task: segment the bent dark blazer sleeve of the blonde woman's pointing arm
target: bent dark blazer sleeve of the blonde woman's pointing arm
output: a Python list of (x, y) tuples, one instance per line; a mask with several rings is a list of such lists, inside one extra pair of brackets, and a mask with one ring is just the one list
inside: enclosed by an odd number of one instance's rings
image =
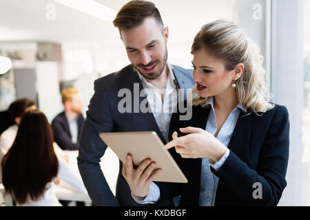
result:
[[(255, 170), (249, 168), (232, 151), (218, 172), (211, 168), (220, 181), (249, 206), (276, 206), (287, 186), (285, 175), (289, 160), (289, 113), (286, 107), (275, 108)], [(261, 190), (261, 195), (258, 190)]]

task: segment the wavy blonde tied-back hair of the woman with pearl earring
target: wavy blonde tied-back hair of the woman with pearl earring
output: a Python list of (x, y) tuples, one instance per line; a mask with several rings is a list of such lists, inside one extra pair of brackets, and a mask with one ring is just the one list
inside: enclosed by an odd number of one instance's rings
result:
[[(266, 89), (266, 72), (262, 67), (259, 48), (236, 23), (217, 20), (204, 25), (195, 36), (191, 53), (201, 49), (223, 61), (227, 71), (234, 69), (238, 63), (245, 65), (242, 76), (236, 81), (236, 93), (240, 104), (254, 113), (266, 112), (273, 108), (273, 104), (267, 101), (271, 95)], [(196, 93), (195, 86), (192, 94)], [(194, 105), (203, 105), (207, 99), (196, 94), (192, 102)]]

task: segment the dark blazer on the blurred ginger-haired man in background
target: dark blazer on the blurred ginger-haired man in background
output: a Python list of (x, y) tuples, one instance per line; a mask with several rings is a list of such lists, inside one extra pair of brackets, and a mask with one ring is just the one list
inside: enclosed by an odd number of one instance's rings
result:
[[(82, 114), (77, 116), (78, 123), (78, 137), (80, 136), (81, 129), (84, 122), (84, 117)], [(69, 128), (69, 123), (65, 117), (65, 112), (59, 113), (54, 120), (52, 120), (52, 129), (54, 131), (54, 140), (63, 150), (75, 151), (79, 149), (79, 142), (76, 144), (71, 141), (71, 133)]]

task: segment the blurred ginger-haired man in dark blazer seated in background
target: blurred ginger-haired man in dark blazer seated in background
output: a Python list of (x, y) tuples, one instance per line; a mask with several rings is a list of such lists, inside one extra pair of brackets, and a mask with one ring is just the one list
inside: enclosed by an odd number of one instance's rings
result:
[(79, 149), (79, 135), (84, 122), (81, 114), (82, 101), (79, 91), (70, 87), (61, 91), (61, 101), (65, 111), (52, 120), (54, 140), (63, 150), (76, 151)]

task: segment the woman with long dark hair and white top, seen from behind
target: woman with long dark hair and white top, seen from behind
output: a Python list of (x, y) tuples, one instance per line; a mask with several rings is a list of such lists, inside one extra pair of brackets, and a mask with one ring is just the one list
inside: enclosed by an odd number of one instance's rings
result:
[(61, 206), (55, 194), (55, 177), (67, 181), (77, 192), (87, 193), (81, 177), (71, 172), (62, 157), (56, 157), (53, 140), (44, 113), (31, 110), (23, 115), (14, 143), (1, 162), (3, 186), (17, 206)]

